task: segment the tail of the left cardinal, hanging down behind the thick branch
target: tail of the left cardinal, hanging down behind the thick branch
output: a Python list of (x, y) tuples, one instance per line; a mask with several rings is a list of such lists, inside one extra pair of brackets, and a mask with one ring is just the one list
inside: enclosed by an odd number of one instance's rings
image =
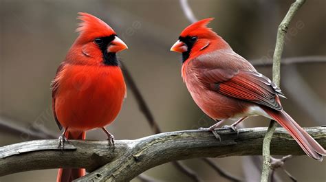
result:
[[(68, 132), (65, 136), (67, 139), (85, 139), (85, 132), (72, 133)], [(56, 179), (57, 182), (70, 182), (74, 179), (78, 179), (79, 177), (85, 176), (85, 169), (59, 169), (58, 177)]]

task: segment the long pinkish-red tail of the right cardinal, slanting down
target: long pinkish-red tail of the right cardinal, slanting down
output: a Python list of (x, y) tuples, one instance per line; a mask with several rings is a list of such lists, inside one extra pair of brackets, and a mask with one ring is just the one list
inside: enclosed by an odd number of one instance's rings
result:
[(285, 111), (274, 111), (271, 109), (264, 109), (268, 115), (270, 115), (276, 122), (281, 124), (290, 135), (298, 142), (299, 146), (305, 151), (305, 153), (318, 161), (323, 160), (323, 156), (326, 155), (325, 149), (320, 146), (317, 141), (312, 138), (301, 126), (299, 126), (293, 119), (285, 113)]

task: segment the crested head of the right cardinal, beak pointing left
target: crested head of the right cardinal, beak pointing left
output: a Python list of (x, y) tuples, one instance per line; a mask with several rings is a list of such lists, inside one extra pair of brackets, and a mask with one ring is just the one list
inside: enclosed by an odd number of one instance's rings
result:
[[(179, 40), (171, 47), (171, 51), (182, 53), (182, 62), (188, 58), (223, 48), (225, 41), (207, 27), (214, 18), (203, 19), (186, 27)], [(221, 41), (220, 41), (221, 40)]]

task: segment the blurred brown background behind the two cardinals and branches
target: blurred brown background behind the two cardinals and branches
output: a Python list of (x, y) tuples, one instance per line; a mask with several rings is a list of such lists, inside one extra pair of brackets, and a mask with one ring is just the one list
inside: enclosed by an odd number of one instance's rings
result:
[[(292, 1), (189, 1), (198, 19), (215, 17), (210, 24), (248, 60), (272, 57), (276, 30)], [(290, 26), (283, 57), (325, 56), (326, 4), (310, 0), (303, 5)], [(59, 130), (51, 111), (50, 82), (56, 68), (77, 34), (77, 12), (89, 12), (106, 21), (129, 49), (119, 54), (164, 131), (209, 126), (212, 121), (193, 102), (180, 77), (180, 55), (171, 45), (189, 22), (179, 1), (0, 1), (0, 115), (1, 120), (25, 128)], [(271, 67), (259, 68), (271, 76)], [(326, 65), (301, 64), (282, 68), (281, 88), (287, 100), (285, 110), (301, 126), (326, 124)], [(246, 127), (268, 126), (268, 120), (247, 120)], [(136, 139), (151, 135), (144, 116), (129, 91), (116, 122), (108, 127), (116, 139)], [(102, 132), (89, 131), (88, 139), (105, 139)], [(30, 139), (1, 130), (0, 146)], [(243, 157), (215, 159), (222, 168), (238, 177), (248, 177)], [(198, 159), (185, 163), (205, 181), (226, 181)], [(325, 181), (325, 161), (306, 156), (287, 161), (285, 168), (299, 181)], [(57, 170), (21, 172), (0, 177), (0, 181), (55, 181)], [(171, 164), (146, 172), (162, 181), (189, 181)], [(283, 181), (290, 181), (279, 170)], [(254, 181), (254, 179), (248, 179)], [(133, 181), (138, 181), (134, 179)]]

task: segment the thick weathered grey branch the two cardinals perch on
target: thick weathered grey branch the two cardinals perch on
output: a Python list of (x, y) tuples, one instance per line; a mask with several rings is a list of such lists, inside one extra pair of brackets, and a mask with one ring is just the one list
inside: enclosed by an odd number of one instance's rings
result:
[[(321, 146), (326, 146), (325, 127), (305, 130)], [(217, 130), (217, 133), (222, 138), (221, 142), (216, 142), (211, 133), (201, 130), (118, 140), (115, 152), (108, 150), (107, 141), (70, 140), (65, 152), (58, 148), (56, 139), (26, 141), (0, 148), (0, 176), (26, 170), (86, 168), (88, 172), (93, 172), (76, 181), (129, 181), (145, 170), (169, 161), (261, 155), (266, 128), (239, 129), (239, 136), (224, 129)], [(276, 129), (271, 146), (273, 155), (305, 155), (283, 128)]]

